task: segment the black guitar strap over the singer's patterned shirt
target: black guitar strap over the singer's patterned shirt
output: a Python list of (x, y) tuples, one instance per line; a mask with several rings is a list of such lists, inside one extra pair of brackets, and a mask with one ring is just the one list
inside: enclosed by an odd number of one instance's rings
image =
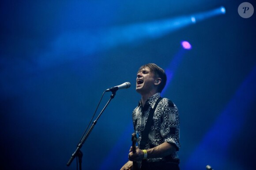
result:
[(139, 148), (140, 149), (145, 149), (145, 147), (146, 147), (147, 140), (148, 140), (149, 130), (151, 128), (152, 121), (153, 121), (154, 111), (155, 111), (158, 103), (161, 100), (162, 100), (162, 97), (159, 97), (158, 100), (154, 104), (154, 108), (152, 109), (152, 107), (150, 107), (150, 111), (149, 111), (149, 115), (148, 115), (147, 122), (146, 122), (146, 125), (145, 125), (145, 129), (144, 129), (144, 131), (141, 134), (141, 140), (140, 140), (140, 144), (139, 144)]

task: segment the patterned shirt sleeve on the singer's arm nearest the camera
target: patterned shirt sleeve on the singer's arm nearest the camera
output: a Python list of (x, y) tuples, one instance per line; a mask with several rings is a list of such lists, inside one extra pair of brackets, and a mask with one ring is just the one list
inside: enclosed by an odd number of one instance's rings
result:
[(180, 118), (176, 105), (171, 100), (162, 103), (161, 136), (165, 142), (180, 148)]

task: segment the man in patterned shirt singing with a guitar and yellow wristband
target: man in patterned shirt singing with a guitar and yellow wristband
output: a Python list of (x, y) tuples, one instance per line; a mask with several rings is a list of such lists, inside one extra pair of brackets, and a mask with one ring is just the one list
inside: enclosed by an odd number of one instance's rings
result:
[(180, 148), (179, 113), (171, 100), (160, 96), (166, 79), (165, 71), (156, 64), (139, 68), (136, 91), (141, 100), (132, 112), (138, 147), (135, 153), (131, 147), (129, 161), (120, 170), (132, 170), (133, 161), (139, 164), (139, 170), (180, 169), (177, 154)]

